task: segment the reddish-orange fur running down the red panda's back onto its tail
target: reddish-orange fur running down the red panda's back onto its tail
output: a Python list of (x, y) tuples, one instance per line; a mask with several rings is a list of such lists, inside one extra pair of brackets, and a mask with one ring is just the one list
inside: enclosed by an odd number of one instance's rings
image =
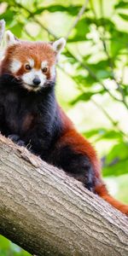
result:
[[(60, 108), (61, 109), (61, 108)], [(65, 144), (69, 144), (75, 152), (85, 154), (89, 157), (90, 161), (93, 163), (96, 177), (96, 188), (95, 192), (97, 195), (100, 195), (105, 201), (108, 201), (113, 207), (117, 208), (120, 212), (128, 215), (128, 206), (115, 200), (108, 193), (108, 189), (105, 184), (102, 182), (101, 177), (101, 165), (96, 155), (96, 150), (91, 146), (91, 144), (82, 137), (79, 132), (77, 132), (70, 119), (67, 118), (67, 115), (61, 109), (61, 117), (64, 122), (64, 133), (61, 139), (58, 142), (60, 147)]]

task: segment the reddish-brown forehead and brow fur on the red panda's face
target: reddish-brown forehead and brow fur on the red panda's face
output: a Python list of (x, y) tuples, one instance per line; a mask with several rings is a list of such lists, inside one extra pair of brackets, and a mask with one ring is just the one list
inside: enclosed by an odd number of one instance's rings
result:
[[(32, 44), (32, 42), (20, 41), (20, 44), (15, 44), (7, 48), (5, 58), (2, 61), (1, 73), (11, 73), (9, 65), (11, 61), (16, 59), (22, 63), (20, 70), (15, 73), (15, 77), (19, 78), (20, 75), (28, 72), (25, 69), (25, 64), (30, 58), (34, 60), (34, 68), (37, 70), (41, 68), (42, 61), (48, 61), (48, 67), (51, 67), (55, 64), (55, 51), (50, 44), (42, 42)], [(50, 79), (49, 69), (46, 75), (47, 79)]]

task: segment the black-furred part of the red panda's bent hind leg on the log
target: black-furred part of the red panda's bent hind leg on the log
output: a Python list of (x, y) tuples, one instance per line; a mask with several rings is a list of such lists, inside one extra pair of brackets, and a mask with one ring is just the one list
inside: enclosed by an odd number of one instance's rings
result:
[(94, 170), (87, 155), (76, 152), (72, 145), (61, 145), (52, 155), (52, 164), (63, 169), (68, 175), (84, 183), (86, 189), (94, 192)]

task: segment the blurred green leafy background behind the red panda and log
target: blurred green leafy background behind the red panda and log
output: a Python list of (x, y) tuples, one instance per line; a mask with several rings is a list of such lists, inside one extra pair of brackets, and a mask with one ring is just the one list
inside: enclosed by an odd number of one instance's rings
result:
[[(56, 96), (95, 145), (110, 193), (128, 203), (128, 1), (0, 1), (0, 19), (18, 38), (67, 38)], [(29, 254), (0, 236), (0, 256), (12, 255)]]

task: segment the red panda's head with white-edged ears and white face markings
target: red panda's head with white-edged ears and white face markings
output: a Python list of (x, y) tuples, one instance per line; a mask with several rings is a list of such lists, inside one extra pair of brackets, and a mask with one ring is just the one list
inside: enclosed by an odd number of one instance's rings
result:
[(13, 75), (27, 90), (40, 90), (55, 80), (55, 64), (66, 41), (54, 43), (21, 41), (6, 32), (7, 49), (1, 73)]

